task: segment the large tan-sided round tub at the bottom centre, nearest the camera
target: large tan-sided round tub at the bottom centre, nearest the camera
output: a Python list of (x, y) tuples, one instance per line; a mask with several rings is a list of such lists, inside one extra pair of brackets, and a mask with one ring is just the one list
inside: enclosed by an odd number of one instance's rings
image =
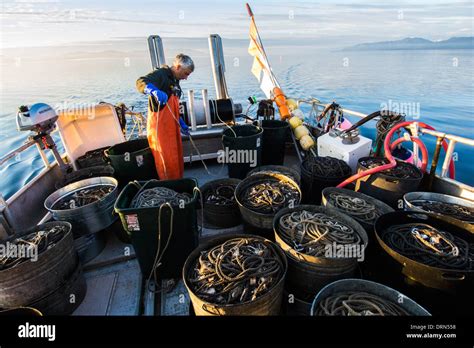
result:
[[(280, 262), (283, 264), (283, 274), (280, 279), (273, 284), (273, 287), (267, 291), (265, 294), (261, 295), (254, 301), (247, 301), (238, 304), (215, 304), (202, 300), (199, 298), (193, 288), (191, 287), (189, 278), (193, 271), (195, 262), (201, 255), (201, 252), (205, 250), (210, 250), (213, 247), (220, 245), (231, 239), (238, 238), (256, 238), (263, 243), (265, 243), (276, 256), (279, 258)], [(184, 264), (182, 276), (184, 284), (188, 290), (191, 302), (193, 304), (193, 309), (196, 315), (252, 315), (252, 316), (267, 316), (267, 315), (278, 315), (281, 310), (281, 301), (283, 296), (283, 285), (285, 283), (285, 276), (287, 272), (287, 262), (285, 254), (281, 249), (275, 245), (273, 242), (268, 239), (264, 239), (259, 236), (253, 235), (234, 235), (234, 236), (221, 236), (216, 237), (205, 244), (200, 245), (196, 248), (187, 258), (186, 263)]]

